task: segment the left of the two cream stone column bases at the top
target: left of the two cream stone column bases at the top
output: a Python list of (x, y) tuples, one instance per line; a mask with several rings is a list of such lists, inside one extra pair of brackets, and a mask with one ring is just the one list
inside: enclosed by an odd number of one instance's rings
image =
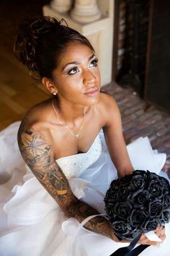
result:
[(53, 0), (50, 6), (58, 13), (66, 13), (71, 9), (72, 0)]

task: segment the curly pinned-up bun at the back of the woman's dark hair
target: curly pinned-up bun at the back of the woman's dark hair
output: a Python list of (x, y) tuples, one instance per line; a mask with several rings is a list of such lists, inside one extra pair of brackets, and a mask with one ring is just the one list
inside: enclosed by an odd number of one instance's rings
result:
[[(61, 20), (62, 22), (63, 20)], [(33, 73), (40, 72), (38, 67), (38, 46), (45, 33), (53, 28), (60, 29), (61, 22), (52, 17), (28, 18), (19, 26), (19, 34), (14, 44), (14, 53)]]

